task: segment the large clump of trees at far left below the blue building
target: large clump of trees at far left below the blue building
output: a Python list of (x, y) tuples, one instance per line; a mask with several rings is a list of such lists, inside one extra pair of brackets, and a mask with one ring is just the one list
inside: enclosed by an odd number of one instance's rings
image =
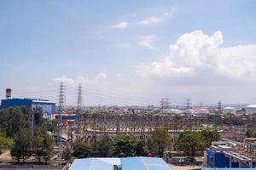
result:
[(0, 150), (10, 149), (17, 161), (26, 161), (29, 156), (49, 160), (53, 154), (53, 139), (47, 133), (55, 129), (55, 124), (43, 118), (42, 111), (35, 108), (34, 133), (29, 131), (30, 111), (26, 107), (0, 110)]

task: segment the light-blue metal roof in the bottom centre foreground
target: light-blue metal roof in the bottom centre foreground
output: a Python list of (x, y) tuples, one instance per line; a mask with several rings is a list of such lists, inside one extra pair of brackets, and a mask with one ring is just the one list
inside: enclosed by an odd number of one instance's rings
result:
[(172, 170), (158, 157), (75, 159), (69, 170)]

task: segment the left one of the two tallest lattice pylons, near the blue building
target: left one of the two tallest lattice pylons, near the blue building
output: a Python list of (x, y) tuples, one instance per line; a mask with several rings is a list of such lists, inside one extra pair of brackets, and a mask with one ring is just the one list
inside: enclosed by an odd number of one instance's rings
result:
[(64, 83), (60, 83), (60, 88), (59, 88), (59, 109), (58, 109), (58, 144), (61, 146), (61, 138), (62, 138), (62, 111), (64, 108), (65, 104), (65, 88), (64, 88)]

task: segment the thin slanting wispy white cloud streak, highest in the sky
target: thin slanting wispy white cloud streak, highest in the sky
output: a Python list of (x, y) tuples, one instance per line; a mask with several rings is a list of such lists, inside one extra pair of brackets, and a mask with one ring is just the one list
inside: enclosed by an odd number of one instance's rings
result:
[(148, 26), (158, 24), (172, 17), (172, 13), (165, 13), (160, 16), (151, 16), (138, 22), (139, 25)]

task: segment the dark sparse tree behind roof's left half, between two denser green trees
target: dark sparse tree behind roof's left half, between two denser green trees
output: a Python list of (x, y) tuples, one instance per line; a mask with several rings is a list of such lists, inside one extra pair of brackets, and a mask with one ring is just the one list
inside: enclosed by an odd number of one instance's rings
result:
[(108, 135), (102, 136), (92, 145), (93, 156), (108, 157), (110, 156), (112, 140)]

